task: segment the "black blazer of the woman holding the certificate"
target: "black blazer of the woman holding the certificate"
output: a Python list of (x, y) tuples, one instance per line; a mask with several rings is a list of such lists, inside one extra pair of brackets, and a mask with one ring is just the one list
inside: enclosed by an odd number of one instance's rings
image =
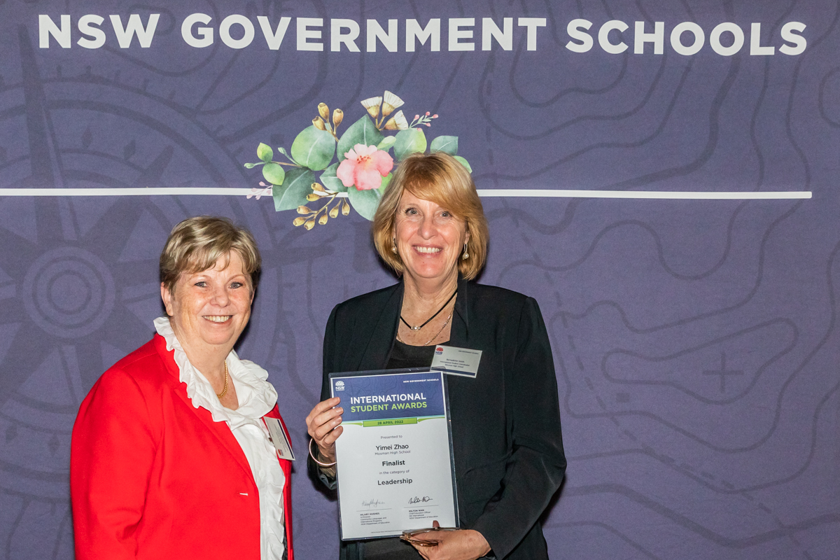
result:
[[(331, 372), (385, 369), (402, 294), (401, 282), (333, 309), (321, 400), (329, 398)], [(475, 379), (447, 376), (461, 526), (480, 531), (500, 560), (548, 558), (538, 518), (563, 480), (566, 459), (537, 301), (459, 279), (449, 346), (482, 351)], [(346, 548), (342, 557), (353, 557)]]

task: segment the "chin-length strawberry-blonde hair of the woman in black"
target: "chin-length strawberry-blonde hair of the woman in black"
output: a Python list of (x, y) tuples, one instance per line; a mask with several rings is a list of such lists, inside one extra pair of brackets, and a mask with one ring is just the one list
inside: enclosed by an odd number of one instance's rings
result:
[(473, 280), (484, 268), (489, 232), (484, 208), (470, 172), (444, 152), (412, 154), (400, 162), (376, 209), (372, 227), (376, 252), (398, 274), (405, 270), (405, 264), (391, 248), (394, 243), (396, 209), (404, 191), (411, 192), (417, 198), (433, 201), (452, 212), (454, 217), (464, 220), (470, 233), (467, 244), (470, 258), (458, 259), (458, 271), (467, 280)]

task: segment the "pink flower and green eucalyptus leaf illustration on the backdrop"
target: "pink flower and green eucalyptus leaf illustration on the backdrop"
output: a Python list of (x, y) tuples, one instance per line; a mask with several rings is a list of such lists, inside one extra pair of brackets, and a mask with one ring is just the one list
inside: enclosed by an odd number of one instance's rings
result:
[(438, 115), (417, 114), (409, 123), (400, 109), (404, 103), (387, 91), (365, 99), (361, 105), (366, 113), (340, 134), (344, 111), (330, 113), (326, 103), (319, 103), (318, 116), (297, 134), (291, 150), (277, 148), (286, 160), (276, 161), (268, 144), (257, 147), (260, 161), (245, 167), (261, 165), (265, 181), (251, 189), (248, 198), (271, 195), (277, 212), (296, 210), (300, 216), (292, 223), (309, 230), (339, 217), (339, 212), (347, 216), (350, 207), (372, 220), (396, 166), (427, 147), (453, 155), (472, 172), (458, 155), (457, 136), (438, 136), (428, 143), (423, 127), (431, 127)]

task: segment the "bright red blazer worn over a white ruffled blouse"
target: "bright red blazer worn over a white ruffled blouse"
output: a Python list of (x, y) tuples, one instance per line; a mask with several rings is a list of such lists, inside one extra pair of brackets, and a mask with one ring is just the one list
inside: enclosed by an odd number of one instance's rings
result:
[[(173, 356), (155, 335), (81, 403), (70, 458), (78, 560), (260, 560), (260, 499), (248, 460), (226, 423), (192, 406)], [(277, 406), (266, 416), (280, 418)], [(294, 560), (291, 463), (279, 460)]]

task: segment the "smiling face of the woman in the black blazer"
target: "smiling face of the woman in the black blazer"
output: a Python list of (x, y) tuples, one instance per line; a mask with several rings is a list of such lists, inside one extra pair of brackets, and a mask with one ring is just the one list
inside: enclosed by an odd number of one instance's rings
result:
[(457, 277), (458, 257), (470, 233), (464, 220), (446, 208), (403, 191), (396, 207), (394, 237), (407, 276), (414, 281), (444, 282)]

